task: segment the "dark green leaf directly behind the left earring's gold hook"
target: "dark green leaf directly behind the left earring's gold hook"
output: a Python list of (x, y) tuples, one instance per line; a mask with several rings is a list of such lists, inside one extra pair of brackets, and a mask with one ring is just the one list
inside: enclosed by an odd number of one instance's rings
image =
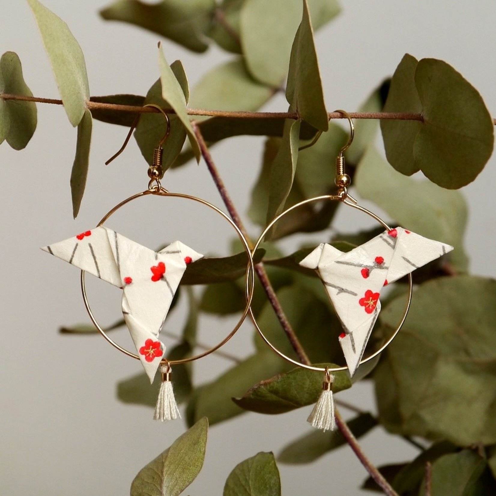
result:
[[(183, 64), (180, 61), (175, 61), (171, 64), (171, 70), (178, 80), (187, 102), (189, 89), (187, 84), (186, 74)], [(168, 102), (162, 98), (162, 83), (160, 79), (155, 81), (153, 86), (148, 90), (145, 98), (145, 104), (153, 103), (161, 108), (169, 108)], [(186, 140), (186, 129), (176, 115), (168, 115), (171, 123), (171, 132), (167, 141), (164, 143), (164, 151), (162, 154), (162, 171), (165, 172), (174, 163), (180, 154), (184, 142)], [(149, 165), (153, 164), (153, 153), (166, 132), (166, 122), (164, 116), (159, 113), (141, 114), (134, 138), (141, 150), (143, 158)]]

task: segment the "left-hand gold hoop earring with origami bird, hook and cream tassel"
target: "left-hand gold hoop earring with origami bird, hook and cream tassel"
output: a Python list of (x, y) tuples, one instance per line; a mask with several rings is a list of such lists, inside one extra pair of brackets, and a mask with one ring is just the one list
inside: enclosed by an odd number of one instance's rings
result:
[[(150, 378), (150, 382), (153, 382), (157, 369), (160, 368), (162, 383), (154, 418), (155, 420), (163, 421), (181, 417), (174, 398), (171, 367), (205, 357), (219, 349), (234, 336), (248, 315), (254, 288), (254, 280), (250, 274), (254, 273), (254, 266), (251, 251), (243, 233), (226, 213), (206, 200), (184, 193), (171, 193), (162, 187), (159, 179), (162, 176), (162, 144), (169, 135), (170, 123), (167, 114), (160, 107), (153, 104), (147, 106), (158, 109), (167, 122), (166, 134), (155, 149), (153, 165), (148, 169), (150, 178), (148, 189), (126, 198), (113, 207), (103, 216), (96, 228), (42, 249), (81, 269), (81, 292), (84, 305), (91, 321), (102, 336), (125, 355), (140, 360)], [(108, 162), (123, 151), (135, 124), (131, 126), (124, 146)], [(159, 340), (159, 332), (187, 266), (203, 258), (203, 255), (180, 241), (175, 241), (166, 248), (155, 252), (103, 226), (104, 222), (124, 205), (137, 198), (149, 195), (163, 198), (184, 198), (212, 209), (221, 215), (236, 231), (248, 258), (245, 275), (247, 286), (246, 306), (240, 319), (231, 332), (218, 344), (209, 350), (181, 360), (163, 358), (166, 347)], [(136, 353), (128, 351), (117, 344), (98, 323), (90, 308), (86, 294), (86, 272), (90, 272), (100, 279), (123, 289), (122, 311), (134, 342)]]

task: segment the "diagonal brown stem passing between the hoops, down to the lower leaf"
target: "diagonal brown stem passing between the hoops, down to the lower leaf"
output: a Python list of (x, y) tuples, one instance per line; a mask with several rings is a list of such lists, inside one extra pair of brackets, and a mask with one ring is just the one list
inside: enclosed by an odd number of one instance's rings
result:
[[(229, 192), (226, 189), (226, 186), (224, 185), (224, 182), (222, 181), (222, 178), (219, 175), (219, 171), (217, 170), (217, 167), (212, 159), (212, 156), (210, 155), (210, 152), (208, 151), (207, 145), (205, 143), (205, 140), (203, 139), (203, 135), (201, 134), (201, 130), (198, 127), (198, 125), (193, 121), (191, 123), (193, 127), (193, 131), (196, 135), (196, 139), (198, 140), (198, 145), (200, 147), (201, 154), (203, 156), (203, 159), (205, 160), (205, 163), (207, 164), (208, 171), (210, 172), (210, 175), (212, 176), (215, 186), (217, 186), (217, 189), (222, 197), (222, 200), (224, 201), (224, 204), (226, 205), (226, 208), (229, 212), (229, 215), (231, 215), (231, 218), (233, 219), (234, 223), (238, 226), (240, 231), (243, 233), (243, 236), (247, 240), (248, 246), (250, 248), (253, 247), (253, 243), (250, 240), (247, 230), (245, 229), (245, 226), (243, 225), (243, 222), (238, 214), (238, 211), (236, 210), (236, 207), (234, 206), (233, 200), (231, 199)], [(286, 318), (286, 315), (284, 314), (284, 310), (282, 309), (281, 305), (279, 304), (279, 301), (277, 300), (274, 288), (270, 284), (269, 278), (267, 277), (267, 273), (265, 272), (265, 269), (263, 267), (263, 264), (258, 263), (255, 265), (255, 272), (260, 279), (260, 283), (262, 284), (263, 289), (265, 290), (265, 293), (269, 299), (270, 304), (272, 305), (272, 308), (274, 309), (277, 318), (281, 324), (281, 327), (283, 328), (284, 332), (286, 333), (286, 336), (288, 336), (289, 342), (291, 343), (291, 346), (295, 350), (296, 354), (298, 355), (298, 358), (300, 359), (302, 364), (305, 365), (310, 365), (310, 360), (305, 353), (300, 341), (298, 340), (295, 331), (291, 327), (291, 324), (289, 323), (288, 319)]]

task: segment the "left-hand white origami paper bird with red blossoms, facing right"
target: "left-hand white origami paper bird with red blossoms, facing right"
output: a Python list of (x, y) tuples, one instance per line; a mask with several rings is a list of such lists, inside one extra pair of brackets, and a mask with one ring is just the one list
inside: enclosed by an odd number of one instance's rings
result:
[(150, 382), (165, 352), (158, 339), (186, 266), (203, 257), (180, 241), (155, 252), (104, 226), (42, 248), (122, 288), (122, 310)]

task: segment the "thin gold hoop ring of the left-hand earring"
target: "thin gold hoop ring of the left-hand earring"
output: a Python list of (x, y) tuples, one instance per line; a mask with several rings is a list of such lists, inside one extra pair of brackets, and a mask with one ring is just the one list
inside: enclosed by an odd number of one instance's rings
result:
[[(98, 223), (96, 227), (100, 227), (112, 214), (117, 212), (121, 207), (123, 207), (125, 204), (129, 203), (132, 200), (135, 200), (137, 198), (141, 198), (143, 196), (148, 196), (149, 194), (152, 195), (157, 195), (157, 196), (164, 196), (164, 197), (172, 197), (172, 198), (185, 198), (187, 200), (193, 200), (198, 203), (201, 203), (202, 205), (206, 205), (207, 207), (211, 208), (218, 214), (222, 215), (224, 219), (226, 219), (229, 224), (235, 229), (236, 233), (238, 234), (241, 242), (243, 243), (243, 247), (245, 248), (245, 251), (248, 254), (248, 265), (247, 265), (247, 271), (246, 271), (246, 300), (247, 304), (245, 307), (245, 310), (243, 311), (243, 314), (241, 315), (241, 318), (239, 319), (238, 323), (235, 325), (233, 330), (218, 344), (213, 346), (207, 351), (204, 351), (203, 353), (200, 353), (198, 355), (194, 355), (192, 357), (188, 358), (183, 358), (181, 360), (167, 360), (163, 359), (160, 363), (162, 364), (169, 364), (170, 366), (172, 365), (177, 365), (177, 364), (184, 364), (186, 362), (192, 362), (193, 360), (198, 360), (199, 358), (203, 358), (207, 355), (210, 355), (210, 353), (213, 353), (215, 350), (218, 350), (221, 346), (223, 346), (225, 343), (227, 343), (236, 333), (236, 331), (241, 327), (241, 324), (245, 320), (246, 316), (248, 315), (250, 304), (251, 304), (251, 299), (253, 298), (253, 288), (254, 288), (254, 278), (252, 277), (252, 274), (254, 274), (254, 264), (253, 264), (253, 257), (251, 255), (250, 248), (248, 246), (248, 243), (243, 236), (243, 233), (241, 230), (238, 228), (238, 226), (234, 223), (234, 221), (226, 214), (224, 213), (220, 208), (216, 207), (212, 203), (209, 203), (206, 200), (203, 200), (201, 198), (197, 198), (196, 196), (191, 196), (188, 194), (184, 193), (171, 193), (167, 191), (166, 189), (162, 187), (152, 187), (149, 188), (145, 191), (142, 191), (141, 193), (137, 193), (133, 196), (129, 196), (129, 198), (126, 198), (124, 201), (121, 201), (118, 205), (116, 205), (114, 208), (112, 208), (109, 212), (107, 212), (102, 220)], [(251, 276), (250, 276), (251, 275)], [(105, 330), (101, 327), (101, 325), (98, 323), (96, 320), (95, 316), (93, 315), (93, 312), (90, 308), (89, 302), (88, 302), (88, 297), (86, 295), (86, 285), (85, 285), (85, 271), (81, 270), (81, 292), (83, 295), (83, 301), (84, 301), (84, 306), (86, 307), (86, 311), (88, 312), (88, 315), (93, 322), (93, 325), (98, 329), (100, 334), (112, 345), (114, 348), (117, 348), (119, 351), (124, 353), (124, 355), (127, 355), (128, 357), (135, 358), (136, 360), (139, 360), (139, 356), (136, 355), (135, 353), (132, 353), (119, 344), (117, 344), (112, 338), (109, 337), (109, 335), (105, 332)]]

